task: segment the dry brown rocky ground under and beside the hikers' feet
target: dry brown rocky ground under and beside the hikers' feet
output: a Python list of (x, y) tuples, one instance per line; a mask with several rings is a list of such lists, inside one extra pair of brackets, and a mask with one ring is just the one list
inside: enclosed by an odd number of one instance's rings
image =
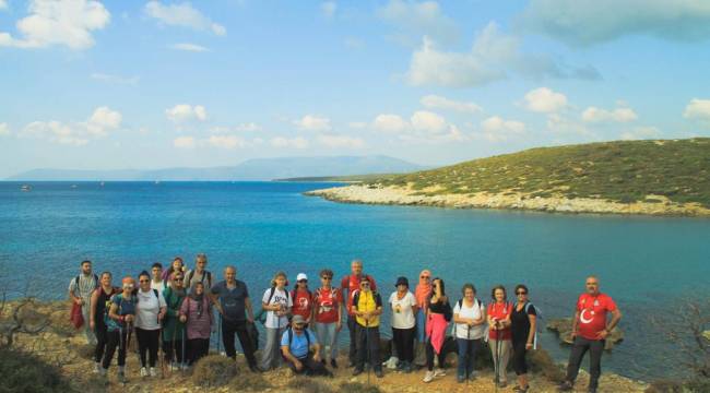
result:
[[(16, 345), (19, 347), (38, 354), (43, 359), (58, 365), (62, 373), (73, 381), (73, 385), (82, 392), (377, 392), (370, 386), (379, 389), (380, 392), (418, 392), (427, 390), (429, 392), (512, 392), (514, 386), (514, 374), (509, 376), (509, 386), (498, 389), (492, 382), (493, 373), (490, 370), (477, 371), (477, 378), (465, 384), (457, 383), (455, 371), (448, 368), (448, 376), (439, 378), (431, 383), (422, 382), (424, 370), (412, 373), (402, 373), (386, 369), (384, 378), (378, 379), (371, 373), (363, 373), (356, 378), (351, 376), (352, 369), (341, 367), (334, 370), (335, 377), (329, 378), (310, 378), (304, 379), (292, 376), (287, 368), (281, 368), (275, 371), (253, 374), (247, 371), (244, 359), (237, 361), (236, 376), (227, 374), (224, 384), (221, 386), (205, 388), (201, 383), (210, 381), (214, 376), (205, 376), (202, 371), (189, 370), (187, 372), (176, 371), (165, 376), (165, 378), (140, 378), (138, 376), (138, 356), (130, 353), (128, 356), (127, 372), (129, 383), (120, 385), (116, 380), (116, 367), (109, 370), (108, 379), (102, 379), (92, 373), (93, 348), (85, 345), (84, 338), (75, 334), (73, 327), (69, 324), (69, 308), (67, 302), (35, 303), (31, 315), (42, 319), (46, 315), (49, 325), (44, 333), (39, 335), (19, 334)], [(217, 362), (226, 361), (221, 356), (211, 356), (212, 360)], [(216, 358), (216, 359), (215, 359)], [(447, 361), (454, 361), (455, 357), (451, 356)], [(346, 359), (341, 357), (340, 365), (346, 365)], [(449, 365), (453, 366), (453, 365)], [(232, 368), (232, 365), (227, 365)], [(220, 371), (222, 372), (222, 371)], [(580, 374), (577, 391), (585, 392), (588, 376)], [(555, 392), (556, 384), (545, 379), (539, 373), (532, 374), (531, 392)], [(619, 376), (606, 373), (602, 377), (600, 392), (643, 392), (647, 384), (634, 381)]]

